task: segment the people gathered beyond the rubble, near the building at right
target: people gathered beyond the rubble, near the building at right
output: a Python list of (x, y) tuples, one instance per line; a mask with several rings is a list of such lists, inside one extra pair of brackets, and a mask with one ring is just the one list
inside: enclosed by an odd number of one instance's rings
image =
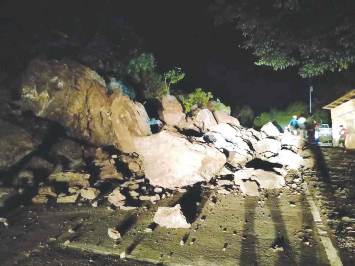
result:
[[(317, 127), (320, 124), (316, 122), (313, 118), (313, 116), (309, 116), (307, 119), (305, 117), (299, 117), (297, 119), (297, 116), (293, 116), (289, 124), (287, 126), (287, 130), (291, 132), (293, 135), (299, 135), (302, 138), (306, 138), (309, 143), (314, 143), (318, 144), (319, 141), (319, 132), (317, 130)], [(307, 136), (306, 135), (307, 131)], [(339, 146), (342, 145), (345, 147), (345, 139), (347, 135), (347, 130), (343, 125), (339, 126)]]

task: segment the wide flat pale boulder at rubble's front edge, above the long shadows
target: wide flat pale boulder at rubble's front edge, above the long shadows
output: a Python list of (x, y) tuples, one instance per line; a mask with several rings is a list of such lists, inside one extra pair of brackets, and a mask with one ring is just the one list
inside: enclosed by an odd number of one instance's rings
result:
[(234, 173), (234, 182), (237, 185), (244, 185), (246, 180), (255, 180), (264, 189), (281, 189), (285, 184), (282, 175), (263, 169), (245, 168)]

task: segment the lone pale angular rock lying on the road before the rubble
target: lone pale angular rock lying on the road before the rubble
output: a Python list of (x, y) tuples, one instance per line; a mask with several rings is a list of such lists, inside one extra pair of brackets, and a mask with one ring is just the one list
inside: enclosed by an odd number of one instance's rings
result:
[(180, 204), (174, 207), (159, 207), (154, 222), (166, 228), (189, 228), (191, 225), (181, 211)]

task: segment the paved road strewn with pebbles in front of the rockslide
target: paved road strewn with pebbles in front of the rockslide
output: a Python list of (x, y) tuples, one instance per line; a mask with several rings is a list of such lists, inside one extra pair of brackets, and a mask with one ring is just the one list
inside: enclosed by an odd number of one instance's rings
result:
[[(318, 193), (319, 173), (307, 175), (310, 192)], [(6, 216), (9, 227), (0, 225), (0, 264), (329, 265), (307, 198), (313, 196), (302, 190), (302, 178), (292, 185), (293, 178), (287, 177), (290, 188), (264, 191), (258, 198), (195, 188), (149, 204), (148, 210), (111, 211), (85, 202), (16, 208)], [(190, 229), (152, 224), (159, 205), (177, 201)], [(110, 227), (120, 231), (121, 240), (108, 237)], [(147, 227), (153, 231), (144, 232)], [(344, 256), (344, 265), (350, 265), (351, 257)]]

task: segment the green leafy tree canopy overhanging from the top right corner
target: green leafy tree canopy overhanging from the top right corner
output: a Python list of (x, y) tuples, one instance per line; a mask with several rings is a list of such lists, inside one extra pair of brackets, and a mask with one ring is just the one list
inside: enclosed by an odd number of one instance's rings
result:
[(297, 66), (302, 77), (355, 63), (353, 0), (215, 0), (215, 23), (234, 23), (257, 65)]

